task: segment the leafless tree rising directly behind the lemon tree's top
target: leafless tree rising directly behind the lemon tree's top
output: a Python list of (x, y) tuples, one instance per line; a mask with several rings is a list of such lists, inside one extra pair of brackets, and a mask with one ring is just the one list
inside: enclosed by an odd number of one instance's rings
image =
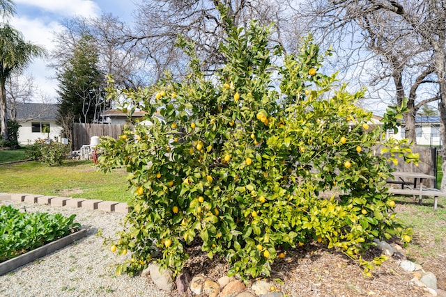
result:
[[(217, 49), (229, 28), (222, 19), (245, 28), (252, 19), (278, 27), (286, 23), (288, 7), (285, 0), (143, 0), (136, 11), (135, 33), (124, 41), (146, 52), (146, 65), (152, 65), (149, 71), (155, 82), (166, 70), (184, 73), (187, 56), (176, 47), (178, 36), (194, 42), (202, 69), (212, 70), (224, 62)], [(277, 27), (271, 39), (282, 43)]]

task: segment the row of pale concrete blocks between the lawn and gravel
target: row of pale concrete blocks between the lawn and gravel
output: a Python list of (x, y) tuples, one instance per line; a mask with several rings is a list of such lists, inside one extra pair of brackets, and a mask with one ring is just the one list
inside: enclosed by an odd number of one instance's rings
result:
[(49, 204), (58, 207), (73, 207), (84, 209), (99, 209), (101, 211), (118, 212), (121, 214), (128, 213), (128, 204), (125, 202), (115, 202), (108, 200), (91, 200), (91, 199), (79, 199), (68, 197), (56, 197), (56, 196), (44, 196), (44, 195), (31, 195), (26, 193), (0, 193), (0, 201), (12, 200), (15, 202), (29, 202)]

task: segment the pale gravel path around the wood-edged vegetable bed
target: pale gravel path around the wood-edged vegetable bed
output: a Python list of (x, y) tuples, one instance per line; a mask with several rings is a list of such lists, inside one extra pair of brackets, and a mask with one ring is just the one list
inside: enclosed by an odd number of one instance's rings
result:
[(86, 237), (70, 246), (0, 276), (0, 296), (171, 296), (141, 277), (115, 275), (116, 264), (129, 255), (112, 254), (96, 233), (101, 229), (102, 236), (114, 236), (122, 229), (124, 214), (11, 201), (0, 204), (64, 216), (76, 214), (75, 222), (88, 229)]

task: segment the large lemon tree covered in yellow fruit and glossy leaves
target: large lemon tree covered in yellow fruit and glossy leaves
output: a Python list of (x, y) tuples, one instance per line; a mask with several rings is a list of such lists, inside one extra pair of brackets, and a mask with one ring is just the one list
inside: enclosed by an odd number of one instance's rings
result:
[[(364, 94), (321, 72), (311, 38), (299, 54), (285, 55), (268, 34), (255, 22), (229, 29), (220, 45), (226, 63), (213, 75), (180, 40), (190, 56), (182, 80), (167, 74), (154, 88), (109, 88), (111, 97), (133, 102), (123, 106), (130, 115), (140, 109), (152, 123), (129, 125), (100, 144), (102, 169), (125, 166), (134, 192), (126, 229), (112, 243), (132, 256), (117, 273), (140, 271), (153, 250), (163, 268), (179, 273), (187, 246), (199, 244), (208, 257), (225, 257), (230, 275), (254, 278), (311, 241), (369, 273), (383, 260), (361, 257), (374, 239), (410, 238), (394, 221), (383, 182), (389, 163), (375, 149), (386, 145), (383, 129), (394, 127), (399, 109), (382, 127), (369, 125), (372, 114), (355, 106)], [(403, 142), (387, 147), (416, 159)]]

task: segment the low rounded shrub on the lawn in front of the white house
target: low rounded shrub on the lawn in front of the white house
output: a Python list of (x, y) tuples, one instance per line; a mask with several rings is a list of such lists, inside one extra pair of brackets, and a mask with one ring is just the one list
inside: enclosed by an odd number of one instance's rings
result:
[(70, 146), (63, 143), (38, 139), (33, 144), (28, 145), (25, 150), (26, 157), (47, 163), (49, 166), (61, 166), (63, 159), (66, 159), (70, 152)]

